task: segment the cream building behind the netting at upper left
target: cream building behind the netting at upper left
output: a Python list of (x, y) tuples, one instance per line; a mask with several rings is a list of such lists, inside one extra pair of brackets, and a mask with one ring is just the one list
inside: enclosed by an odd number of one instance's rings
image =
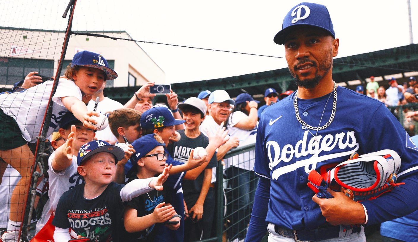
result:
[[(166, 83), (165, 73), (125, 31), (85, 31), (72, 34), (61, 74), (77, 51), (102, 54), (117, 74), (108, 87), (140, 86), (147, 81)], [(109, 36), (110, 39), (93, 35)], [(55, 76), (65, 39), (64, 31), (0, 27), (0, 88), (10, 88), (31, 71)], [(125, 40), (126, 39), (126, 40)]]

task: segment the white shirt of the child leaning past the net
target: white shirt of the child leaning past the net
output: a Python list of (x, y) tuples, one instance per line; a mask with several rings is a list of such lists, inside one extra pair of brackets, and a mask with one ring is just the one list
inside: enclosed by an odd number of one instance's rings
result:
[[(23, 92), (15, 92), (0, 95), (0, 108), (3, 112), (13, 117), (19, 125), (23, 138), (28, 142), (36, 142), (39, 136), (43, 117), (51, 96), (54, 81), (46, 81)], [(61, 102), (61, 97), (74, 96), (82, 100), (80, 88), (72, 80), (59, 79), (58, 87), (52, 98), (53, 114), (46, 136), (59, 128), (61, 118), (69, 112)]]

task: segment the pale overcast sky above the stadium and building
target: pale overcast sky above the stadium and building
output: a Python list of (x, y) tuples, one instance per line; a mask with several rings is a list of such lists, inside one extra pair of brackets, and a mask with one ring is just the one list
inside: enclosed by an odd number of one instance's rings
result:
[[(316, 0), (328, 8), (340, 39), (338, 57), (410, 44), (407, 0)], [(411, 12), (418, 3), (411, 0)], [(0, 26), (64, 30), (68, 0), (7, 1)], [(295, 0), (77, 0), (73, 30), (124, 30), (166, 73), (167, 82), (189, 82), (287, 67), (283, 46), (274, 44)], [(28, 5), (30, 4), (30, 5)], [(414, 43), (418, 16), (412, 16)], [(281, 57), (281, 58), (275, 58)]]

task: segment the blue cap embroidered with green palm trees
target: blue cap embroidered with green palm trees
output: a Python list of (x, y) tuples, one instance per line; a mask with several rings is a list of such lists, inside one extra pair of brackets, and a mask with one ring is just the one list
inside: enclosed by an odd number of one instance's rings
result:
[(145, 111), (139, 120), (142, 129), (155, 129), (159, 127), (183, 124), (185, 121), (176, 119), (170, 109), (164, 106), (152, 107)]

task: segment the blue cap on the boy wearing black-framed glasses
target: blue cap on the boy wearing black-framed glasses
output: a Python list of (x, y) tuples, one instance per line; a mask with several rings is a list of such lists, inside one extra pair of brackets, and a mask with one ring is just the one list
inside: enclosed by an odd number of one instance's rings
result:
[(148, 154), (151, 150), (153, 150), (157, 146), (166, 146), (166, 143), (164, 142), (158, 142), (155, 139), (155, 136), (158, 136), (158, 134), (147, 134), (139, 139), (136, 139), (134, 142), (132, 142), (132, 146), (135, 149), (135, 153), (132, 154), (131, 158), (126, 162), (125, 164), (125, 175), (129, 177), (132, 175), (133, 172), (135, 172), (135, 165), (136, 162), (144, 155)]

